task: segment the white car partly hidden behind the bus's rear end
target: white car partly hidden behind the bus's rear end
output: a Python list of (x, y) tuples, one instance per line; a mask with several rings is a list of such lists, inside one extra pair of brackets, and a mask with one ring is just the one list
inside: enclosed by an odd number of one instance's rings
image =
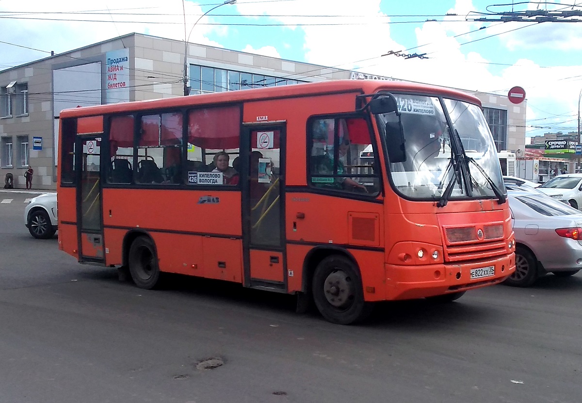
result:
[(24, 208), (24, 225), (34, 238), (51, 238), (55, 235), (56, 223), (56, 193), (34, 197)]

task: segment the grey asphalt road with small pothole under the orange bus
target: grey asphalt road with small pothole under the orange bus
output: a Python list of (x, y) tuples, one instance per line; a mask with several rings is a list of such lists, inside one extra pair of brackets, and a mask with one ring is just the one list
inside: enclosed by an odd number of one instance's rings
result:
[(120, 282), (33, 239), (26, 197), (0, 192), (0, 403), (581, 400), (582, 274), (336, 326), (290, 296)]

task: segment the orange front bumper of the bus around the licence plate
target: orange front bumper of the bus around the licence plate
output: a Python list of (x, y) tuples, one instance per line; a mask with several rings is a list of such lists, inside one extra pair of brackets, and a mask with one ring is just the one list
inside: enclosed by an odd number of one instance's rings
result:
[[(491, 266), (495, 267), (494, 275), (471, 279), (471, 270)], [(498, 284), (513, 274), (515, 254), (471, 263), (439, 263), (423, 266), (386, 263), (385, 268), (386, 299), (416, 299)]]

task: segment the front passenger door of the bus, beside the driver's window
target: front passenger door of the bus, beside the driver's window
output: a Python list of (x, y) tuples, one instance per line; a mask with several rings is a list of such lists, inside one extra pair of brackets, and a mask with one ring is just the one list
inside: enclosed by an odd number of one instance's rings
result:
[(244, 284), (286, 291), (285, 125), (252, 125), (243, 131)]

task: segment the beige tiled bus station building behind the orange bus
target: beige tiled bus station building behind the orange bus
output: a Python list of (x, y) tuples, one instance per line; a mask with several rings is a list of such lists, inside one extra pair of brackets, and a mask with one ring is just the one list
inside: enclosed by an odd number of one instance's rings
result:
[[(58, 116), (62, 109), (116, 102), (284, 86), (338, 79), (397, 80), (144, 34), (88, 45), (0, 71), (0, 175), (11, 172), (24, 188), (56, 188)], [(519, 156), (525, 148), (526, 102), (475, 93), (498, 150)]]

